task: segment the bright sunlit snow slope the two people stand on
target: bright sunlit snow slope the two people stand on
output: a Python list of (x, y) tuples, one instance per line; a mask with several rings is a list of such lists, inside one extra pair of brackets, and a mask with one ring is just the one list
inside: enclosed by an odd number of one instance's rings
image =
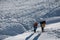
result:
[(43, 33), (39, 27), (36, 33), (28, 31), (4, 40), (60, 40), (60, 22), (46, 25)]

